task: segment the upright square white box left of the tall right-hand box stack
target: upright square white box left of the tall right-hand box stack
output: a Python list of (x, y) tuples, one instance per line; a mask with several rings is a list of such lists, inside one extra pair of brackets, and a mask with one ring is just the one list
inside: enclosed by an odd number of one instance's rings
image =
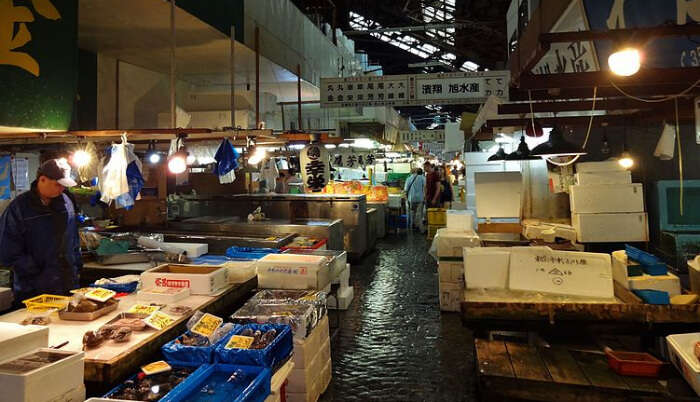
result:
[(520, 172), (476, 172), (476, 213), (479, 218), (520, 217), (522, 180)]

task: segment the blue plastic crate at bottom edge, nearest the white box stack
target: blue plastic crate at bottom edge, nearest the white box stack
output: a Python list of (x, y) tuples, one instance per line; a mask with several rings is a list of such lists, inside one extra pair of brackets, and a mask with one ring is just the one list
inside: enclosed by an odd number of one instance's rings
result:
[[(218, 383), (226, 382), (234, 372), (239, 373), (239, 381), (230, 389), (218, 390), (213, 394), (203, 388), (210, 381)], [(242, 376), (242, 377), (241, 377)], [(254, 366), (242, 366), (231, 364), (204, 365), (202, 370), (197, 370), (196, 375), (191, 375), (186, 381), (178, 385), (177, 392), (170, 392), (161, 402), (263, 402), (270, 395), (270, 369)]]

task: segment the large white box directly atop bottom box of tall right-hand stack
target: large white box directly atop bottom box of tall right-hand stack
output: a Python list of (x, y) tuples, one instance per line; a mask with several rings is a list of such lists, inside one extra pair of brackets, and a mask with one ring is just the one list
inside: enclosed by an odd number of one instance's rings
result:
[(639, 183), (571, 186), (569, 201), (575, 214), (644, 212), (644, 191)]

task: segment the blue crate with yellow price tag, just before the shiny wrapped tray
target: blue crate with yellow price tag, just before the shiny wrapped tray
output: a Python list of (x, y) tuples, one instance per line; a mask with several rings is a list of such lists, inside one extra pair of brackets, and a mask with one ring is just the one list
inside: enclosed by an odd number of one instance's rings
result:
[[(246, 329), (260, 330), (265, 333), (271, 329), (277, 331), (277, 337), (264, 349), (226, 349), (226, 343), (234, 335), (239, 335)], [(223, 337), (214, 349), (214, 359), (217, 363), (242, 364), (277, 369), (291, 355), (294, 349), (294, 337), (289, 325), (284, 324), (246, 324), (235, 328)]]

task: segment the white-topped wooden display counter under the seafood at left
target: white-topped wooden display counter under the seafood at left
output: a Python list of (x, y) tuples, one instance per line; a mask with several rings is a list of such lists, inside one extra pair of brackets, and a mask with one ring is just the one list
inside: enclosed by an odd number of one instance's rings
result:
[[(253, 289), (257, 287), (257, 278), (241, 284), (229, 285), (215, 296), (190, 296), (177, 303), (186, 306), (191, 312), (176, 316), (177, 320), (168, 328), (156, 331), (148, 329), (133, 332), (125, 343), (105, 342), (100, 347), (85, 352), (85, 382), (95, 389), (103, 389), (121, 381), (126, 376), (138, 371), (138, 368), (153, 358), (160, 347), (185, 331), (185, 323), (191, 315), (201, 310), (219, 316), (228, 316), (245, 302)], [(128, 295), (119, 299), (119, 308), (94, 321), (64, 321), (52, 314), (49, 327), (49, 345), (56, 346), (66, 341), (62, 350), (79, 351), (83, 348), (83, 335), (86, 331), (97, 330), (108, 321), (126, 312), (137, 303), (136, 295)], [(17, 310), (0, 316), (2, 322), (20, 323), (27, 316), (25, 309)], [(92, 384), (90, 384), (92, 383)]]

